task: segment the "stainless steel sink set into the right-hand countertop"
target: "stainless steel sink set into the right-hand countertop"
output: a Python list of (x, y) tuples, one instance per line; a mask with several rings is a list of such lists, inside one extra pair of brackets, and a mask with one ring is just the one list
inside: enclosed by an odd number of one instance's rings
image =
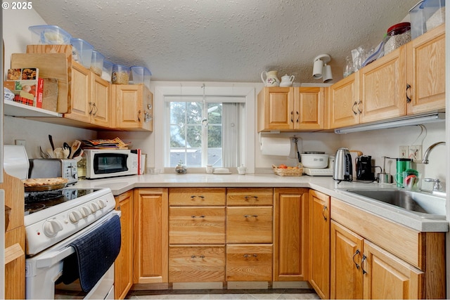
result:
[(411, 211), (423, 218), (445, 219), (446, 200), (441, 197), (411, 190), (386, 188), (349, 188), (345, 191)]

